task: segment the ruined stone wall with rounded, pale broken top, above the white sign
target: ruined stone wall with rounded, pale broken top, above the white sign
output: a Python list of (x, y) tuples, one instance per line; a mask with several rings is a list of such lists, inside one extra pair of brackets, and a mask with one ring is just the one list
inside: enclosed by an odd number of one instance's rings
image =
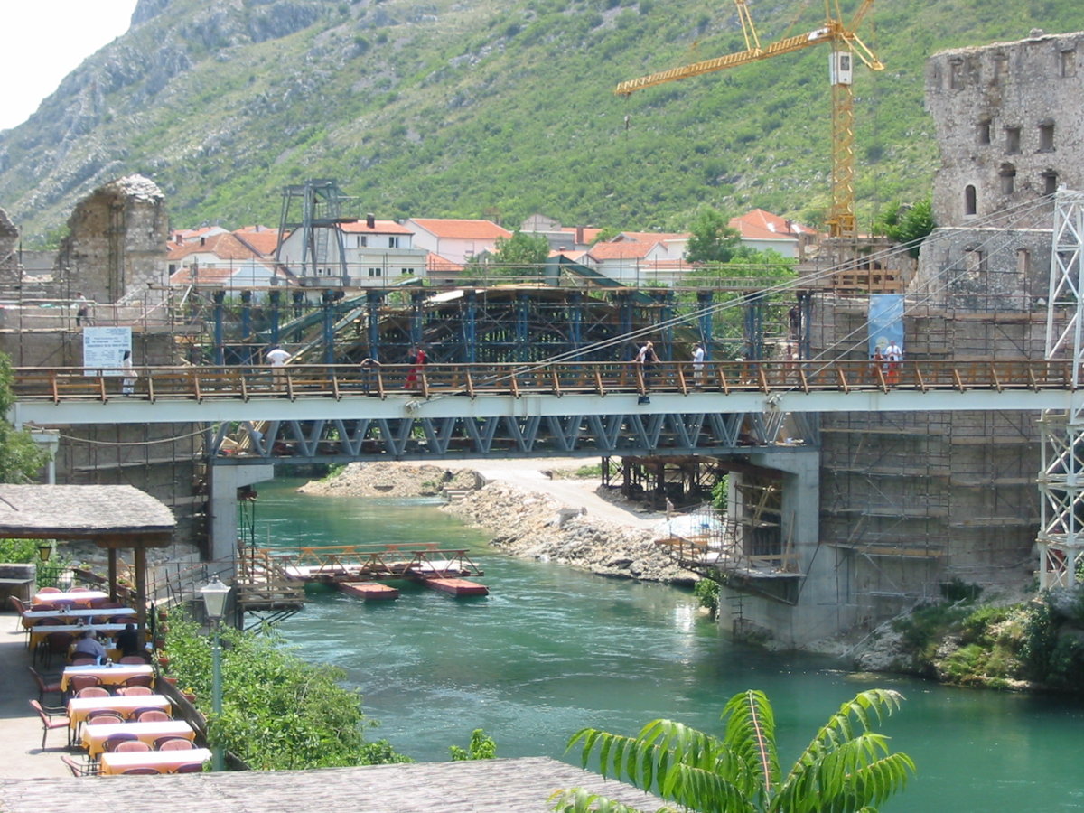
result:
[(116, 302), (165, 286), (169, 222), (153, 181), (137, 175), (99, 186), (76, 206), (68, 230), (60, 264), (72, 293)]

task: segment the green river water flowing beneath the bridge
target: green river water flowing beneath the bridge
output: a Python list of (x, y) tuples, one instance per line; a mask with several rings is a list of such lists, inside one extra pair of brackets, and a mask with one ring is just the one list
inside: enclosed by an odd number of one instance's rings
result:
[(380, 721), (370, 738), (417, 760), (447, 760), (476, 727), (501, 757), (555, 758), (584, 725), (633, 734), (668, 717), (718, 732), (725, 700), (759, 688), (775, 707), (788, 765), (840, 702), (883, 686), (907, 699), (882, 731), (918, 765), (883, 811), (1084, 810), (1080, 702), (866, 682), (827, 658), (726, 641), (688, 591), (492, 552), (433, 502), (306, 496), (297, 485), (259, 487), (259, 544), (438, 541), (468, 549), (486, 571), (485, 598), (406, 588), (398, 601), (364, 604), (323, 591), (281, 624), (300, 655), (341, 667), (362, 691), (365, 712)]

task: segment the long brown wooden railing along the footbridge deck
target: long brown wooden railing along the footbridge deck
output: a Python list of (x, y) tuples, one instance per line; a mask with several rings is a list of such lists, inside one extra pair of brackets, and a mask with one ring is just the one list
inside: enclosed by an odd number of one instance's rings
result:
[[(129, 384), (125, 384), (125, 379)], [(556, 364), (292, 364), (143, 366), (133, 371), (17, 367), (17, 400), (107, 401), (114, 398), (389, 398), (409, 396), (570, 395), (610, 392), (850, 391), (890, 389), (1072, 388), (1072, 363), (1046, 360), (951, 361), (666, 361)], [(126, 389), (131, 392), (126, 393)]]

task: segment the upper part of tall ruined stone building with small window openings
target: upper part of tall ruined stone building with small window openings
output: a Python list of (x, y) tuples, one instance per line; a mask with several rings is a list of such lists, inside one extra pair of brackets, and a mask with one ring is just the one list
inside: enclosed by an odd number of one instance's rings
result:
[(939, 224), (1003, 212), (1009, 228), (1043, 227), (1048, 207), (1008, 210), (1058, 184), (1084, 189), (1084, 31), (934, 54), (926, 104), (941, 150)]

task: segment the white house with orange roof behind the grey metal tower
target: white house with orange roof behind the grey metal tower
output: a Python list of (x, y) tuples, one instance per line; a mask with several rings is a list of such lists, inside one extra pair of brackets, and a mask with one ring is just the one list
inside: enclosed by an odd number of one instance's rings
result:
[(337, 232), (321, 230), (310, 240), (315, 245), (306, 245), (305, 230), (296, 229), (279, 251), (279, 261), (306, 285), (380, 287), (427, 273), (429, 253), (416, 247), (414, 232), (395, 220), (367, 217), (340, 223)]

